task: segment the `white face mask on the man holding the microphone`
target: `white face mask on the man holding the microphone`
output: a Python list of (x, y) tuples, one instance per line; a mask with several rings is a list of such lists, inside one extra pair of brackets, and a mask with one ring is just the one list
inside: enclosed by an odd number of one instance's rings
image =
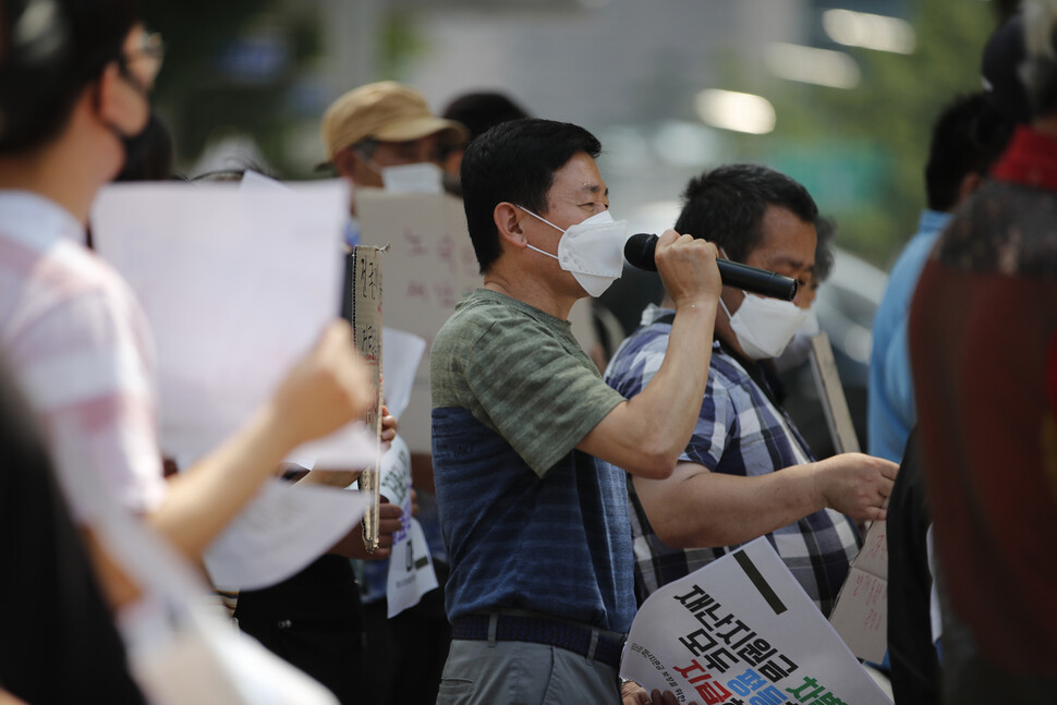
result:
[(620, 279), (624, 266), (624, 243), (628, 241), (627, 220), (613, 220), (608, 210), (603, 210), (562, 230), (527, 208), (518, 207), (561, 233), (557, 255), (532, 245), (527, 247), (557, 259), (558, 265), (571, 272), (590, 295), (600, 296), (612, 282)]

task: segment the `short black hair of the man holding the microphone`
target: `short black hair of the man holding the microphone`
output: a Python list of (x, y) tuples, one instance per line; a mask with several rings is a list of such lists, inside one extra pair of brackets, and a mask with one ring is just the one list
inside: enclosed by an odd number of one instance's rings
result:
[(496, 206), (507, 202), (546, 216), (555, 172), (580, 153), (596, 159), (600, 151), (583, 127), (539, 119), (505, 122), (470, 143), (462, 158), (463, 206), (481, 274), (502, 253)]

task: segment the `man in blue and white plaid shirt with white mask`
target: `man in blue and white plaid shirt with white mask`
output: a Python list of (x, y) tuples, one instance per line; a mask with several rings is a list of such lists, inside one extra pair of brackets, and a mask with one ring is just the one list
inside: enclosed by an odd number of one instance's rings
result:
[[(818, 209), (789, 177), (754, 165), (721, 167), (691, 180), (684, 203), (676, 230), (707, 236), (721, 256), (801, 285), (814, 269)], [(855, 521), (885, 518), (882, 505), (897, 465), (861, 453), (812, 458), (761, 366), (781, 353), (803, 321), (804, 294), (781, 301), (724, 283), (716, 340), (710, 355), (702, 351), (710, 361), (708, 385), (690, 443), (671, 475), (633, 476), (628, 485), (636, 596), (643, 600), (767, 536), (828, 615), (859, 550)], [(606, 381), (624, 397), (651, 385), (670, 352), (672, 304), (669, 295), (647, 306), (609, 363)]]

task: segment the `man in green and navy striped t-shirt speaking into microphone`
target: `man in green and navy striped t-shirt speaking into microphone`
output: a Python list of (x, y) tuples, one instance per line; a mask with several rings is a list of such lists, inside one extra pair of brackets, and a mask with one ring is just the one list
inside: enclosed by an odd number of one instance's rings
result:
[(656, 260), (675, 314), (668, 354), (633, 397), (603, 381), (567, 320), (623, 263), (627, 226), (609, 215), (599, 150), (576, 125), (518, 120), (463, 157), (484, 285), (430, 355), (451, 561), (438, 704), (621, 702), (635, 599), (625, 474), (613, 465), (654, 479), (675, 469), (705, 393), (720, 282), (712, 244), (666, 232)]

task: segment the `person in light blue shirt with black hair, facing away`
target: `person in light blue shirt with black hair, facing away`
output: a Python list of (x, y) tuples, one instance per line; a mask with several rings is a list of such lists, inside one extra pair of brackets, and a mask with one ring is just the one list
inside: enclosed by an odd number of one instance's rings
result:
[(892, 265), (874, 317), (866, 411), (871, 455), (894, 462), (902, 459), (907, 437), (918, 423), (907, 347), (907, 318), (918, 277), (951, 214), (980, 186), (1008, 138), (1007, 123), (982, 93), (956, 99), (933, 125), (925, 166), (928, 207)]

